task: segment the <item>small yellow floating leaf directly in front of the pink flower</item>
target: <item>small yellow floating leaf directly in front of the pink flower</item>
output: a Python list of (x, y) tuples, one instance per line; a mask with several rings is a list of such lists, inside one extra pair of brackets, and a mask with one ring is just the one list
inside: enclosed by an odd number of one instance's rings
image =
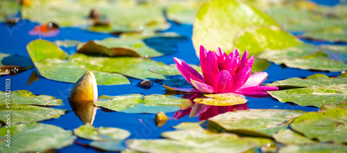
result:
[(203, 96), (207, 98), (195, 98), (194, 102), (212, 106), (230, 106), (244, 104), (248, 101), (239, 94), (232, 93), (205, 94)]

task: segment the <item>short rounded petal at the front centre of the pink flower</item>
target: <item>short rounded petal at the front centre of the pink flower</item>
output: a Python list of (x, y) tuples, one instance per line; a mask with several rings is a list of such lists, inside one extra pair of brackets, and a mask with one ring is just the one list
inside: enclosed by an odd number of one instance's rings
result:
[(214, 78), (214, 90), (218, 93), (230, 92), (232, 88), (232, 75), (226, 70), (220, 71)]

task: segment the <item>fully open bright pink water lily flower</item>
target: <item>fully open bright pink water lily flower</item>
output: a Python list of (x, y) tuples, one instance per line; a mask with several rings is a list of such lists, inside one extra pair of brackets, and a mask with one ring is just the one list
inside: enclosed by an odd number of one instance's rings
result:
[[(254, 55), (248, 59), (248, 51), (242, 59), (237, 49), (229, 55), (218, 48), (214, 53), (200, 46), (200, 64), (203, 75), (187, 62), (174, 57), (176, 66), (183, 78), (203, 93), (241, 93), (244, 95), (265, 96), (266, 91), (278, 90), (278, 87), (261, 86), (267, 73), (251, 74)], [(179, 88), (175, 88), (178, 89)], [(197, 91), (193, 89), (191, 91)], [(187, 91), (187, 90), (185, 90)]]

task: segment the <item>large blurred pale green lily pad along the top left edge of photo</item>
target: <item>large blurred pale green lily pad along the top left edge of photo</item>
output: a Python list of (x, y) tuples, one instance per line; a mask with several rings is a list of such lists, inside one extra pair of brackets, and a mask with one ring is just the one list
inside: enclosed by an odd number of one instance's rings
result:
[[(99, 20), (105, 25), (90, 26), (96, 23), (88, 19), (92, 9), (99, 11)], [(100, 32), (164, 30), (169, 27), (162, 15), (162, 7), (136, 1), (33, 0), (30, 6), (22, 8), (22, 17), (40, 23), (53, 21), (60, 26), (89, 27)]]

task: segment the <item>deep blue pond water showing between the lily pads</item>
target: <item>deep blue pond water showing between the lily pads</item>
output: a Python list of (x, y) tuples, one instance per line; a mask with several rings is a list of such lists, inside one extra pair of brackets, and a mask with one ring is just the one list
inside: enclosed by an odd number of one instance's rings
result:
[[(316, 2), (324, 5), (335, 5), (335, 1), (324, 1), (316, 0)], [(38, 36), (29, 36), (28, 31), (31, 30), (37, 23), (32, 23), (31, 21), (21, 21), (16, 27), (10, 27), (7, 24), (0, 24), (0, 51), (1, 53), (11, 53), (22, 55), (24, 57), (29, 57), (26, 51), (26, 44), (31, 42), (34, 39), (38, 39)], [(107, 37), (116, 37), (110, 34), (104, 33), (93, 33), (86, 30), (81, 30), (78, 28), (60, 28), (61, 32), (57, 37), (44, 38), (51, 42), (55, 40), (64, 40), (72, 39), (78, 40), (81, 42), (87, 42), (91, 39), (105, 39)], [(198, 57), (195, 55), (195, 51), (192, 45), (192, 25), (181, 25), (171, 22), (171, 28), (165, 30), (164, 32), (175, 32), (180, 35), (183, 35), (189, 39), (184, 42), (177, 43), (178, 52), (171, 55), (165, 55), (162, 57), (154, 57), (153, 60), (164, 62), (165, 64), (174, 64), (172, 57), (178, 57), (182, 60), (185, 60), (189, 64), (199, 64)], [(310, 44), (332, 44), (328, 42), (312, 42), (304, 40)], [(335, 44), (344, 44), (346, 43), (335, 43)], [(62, 48), (67, 53), (71, 54), (76, 51), (76, 48)], [(29, 76), (33, 71), (37, 69), (29, 69), (23, 73), (13, 76), (3, 76), (0, 78), (0, 82), (3, 82), (3, 87), (1, 90), (4, 91), (5, 79), (10, 78), (12, 83), (12, 91), (25, 89), (31, 91), (36, 95), (49, 95), (60, 98), (64, 101), (64, 104), (58, 109), (67, 109), (67, 114), (61, 116), (58, 119), (45, 120), (40, 123), (56, 125), (62, 127), (63, 129), (73, 130), (80, 125), (83, 125), (82, 121), (71, 111), (69, 102), (67, 101), (67, 96), (69, 94), (69, 89), (73, 87), (74, 84), (57, 82), (53, 80), (48, 80), (39, 76), (39, 80), (33, 82), (32, 84), (26, 86)], [(331, 73), (331, 72), (322, 72), (322, 71), (307, 71), (301, 69), (292, 69), (292, 68), (282, 68), (282, 66), (271, 63), (271, 66), (266, 70), (269, 73), (268, 79), (264, 83), (271, 83), (276, 80), (284, 80), (288, 78), (306, 78), (309, 75), (314, 73), (323, 73), (328, 76), (337, 76), (340, 73)], [(154, 83), (151, 89), (142, 89), (137, 87), (137, 83), (141, 80), (129, 79), (131, 84), (125, 85), (110, 85), (110, 86), (98, 86), (99, 96), (108, 95), (108, 96), (119, 96), (130, 93), (142, 93), (144, 95), (159, 93), (165, 93), (164, 87), (161, 84)], [(301, 107), (298, 105), (292, 105), (289, 103), (281, 103), (278, 100), (275, 100), (271, 97), (269, 98), (247, 98), (248, 102), (246, 105), (250, 109), (291, 109), (291, 110), (303, 110), (303, 111), (317, 111), (317, 107)], [(167, 113), (167, 116), (174, 116), (174, 112)], [(153, 118), (155, 114), (126, 114), (124, 112), (116, 111), (107, 111), (103, 109), (98, 109), (96, 111), (96, 117), (94, 120), (94, 127), (118, 127), (121, 129), (126, 129), (131, 133), (129, 138), (160, 138), (160, 134), (166, 131), (173, 131), (172, 126), (178, 125), (183, 122), (197, 122), (198, 117), (189, 118), (185, 116), (178, 120), (168, 120), (162, 127), (157, 127)], [(87, 144), (90, 141), (86, 141), (83, 138), (77, 138), (76, 142)], [(84, 147), (83, 145), (74, 144), (69, 147), (65, 147), (59, 152), (96, 152), (92, 147)]]

